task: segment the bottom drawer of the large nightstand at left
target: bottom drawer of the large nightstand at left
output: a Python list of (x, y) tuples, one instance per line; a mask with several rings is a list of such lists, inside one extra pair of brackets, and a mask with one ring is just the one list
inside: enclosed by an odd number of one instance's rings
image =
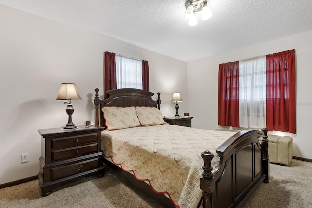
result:
[(97, 157), (67, 166), (53, 167), (51, 168), (51, 181), (97, 168), (99, 166), (99, 159), (100, 158)]

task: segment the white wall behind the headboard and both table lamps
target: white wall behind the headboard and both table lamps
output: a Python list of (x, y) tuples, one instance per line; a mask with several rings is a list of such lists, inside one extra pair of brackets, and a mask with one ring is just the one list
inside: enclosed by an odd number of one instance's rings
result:
[[(187, 63), (0, 5), (0, 184), (37, 175), (38, 129), (67, 123), (66, 105), (56, 101), (61, 83), (76, 83), (82, 100), (72, 102), (73, 122), (94, 121), (94, 89), (103, 95), (103, 53), (149, 61), (150, 91), (161, 92), (162, 113), (173, 116), (173, 92), (187, 101)], [(101, 97), (103, 98), (103, 96)], [(180, 113), (187, 103), (180, 104)], [(29, 162), (21, 164), (21, 154)]]

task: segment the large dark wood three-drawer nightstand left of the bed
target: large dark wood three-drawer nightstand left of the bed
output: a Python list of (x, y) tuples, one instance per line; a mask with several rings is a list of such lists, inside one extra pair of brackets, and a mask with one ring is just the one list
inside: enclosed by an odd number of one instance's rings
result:
[(101, 150), (104, 129), (79, 126), (71, 130), (61, 127), (38, 130), (41, 135), (38, 179), (42, 196), (48, 196), (53, 188), (78, 177), (104, 175)]

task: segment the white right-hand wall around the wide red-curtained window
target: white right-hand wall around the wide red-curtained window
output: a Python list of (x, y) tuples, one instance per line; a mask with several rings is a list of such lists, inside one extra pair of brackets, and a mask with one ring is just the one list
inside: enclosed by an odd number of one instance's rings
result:
[(188, 62), (188, 108), (190, 115), (194, 116), (192, 127), (218, 128), (218, 70), (220, 63), (290, 49), (296, 50), (297, 134), (282, 134), (292, 136), (294, 156), (312, 159), (312, 31)]

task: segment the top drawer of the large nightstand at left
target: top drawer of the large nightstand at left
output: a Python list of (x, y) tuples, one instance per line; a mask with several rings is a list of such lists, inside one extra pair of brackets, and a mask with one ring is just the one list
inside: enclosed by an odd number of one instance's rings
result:
[(98, 140), (97, 133), (57, 138), (52, 139), (52, 149), (63, 149), (72, 146), (80, 146), (90, 142), (97, 142), (97, 140)]

